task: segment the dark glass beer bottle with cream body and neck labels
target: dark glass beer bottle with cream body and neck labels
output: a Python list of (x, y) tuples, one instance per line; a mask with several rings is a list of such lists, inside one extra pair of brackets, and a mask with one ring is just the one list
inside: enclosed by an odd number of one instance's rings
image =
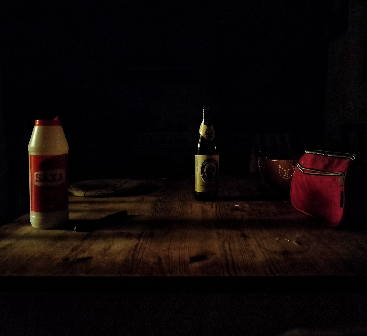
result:
[(195, 155), (194, 197), (199, 201), (214, 201), (218, 197), (219, 155), (209, 109), (203, 108), (199, 134)]

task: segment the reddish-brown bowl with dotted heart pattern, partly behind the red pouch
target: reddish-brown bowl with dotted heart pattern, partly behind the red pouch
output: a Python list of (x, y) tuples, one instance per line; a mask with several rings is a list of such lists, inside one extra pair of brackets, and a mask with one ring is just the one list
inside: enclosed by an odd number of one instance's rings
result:
[(289, 196), (294, 168), (301, 156), (302, 154), (277, 155), (276, 158), (259, 156), (260, 174), (274, 193)]

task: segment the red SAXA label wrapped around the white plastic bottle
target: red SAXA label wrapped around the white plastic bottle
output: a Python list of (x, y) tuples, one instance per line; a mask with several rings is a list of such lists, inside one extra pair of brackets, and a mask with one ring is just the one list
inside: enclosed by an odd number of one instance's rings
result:
[(54, 212), (68, 209), (68, 154), (30, 155), (30, 210)]

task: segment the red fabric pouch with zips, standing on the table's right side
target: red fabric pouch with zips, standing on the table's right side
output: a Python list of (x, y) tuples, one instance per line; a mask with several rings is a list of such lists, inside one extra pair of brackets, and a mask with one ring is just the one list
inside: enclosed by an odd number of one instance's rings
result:
[(360, 183), (356, 155), (306, 150), (294, 170), (291, 202), (327, 225), (350, 221), (359, 225), (364, 220), (356, 211), (364, 208), (357, 196)]

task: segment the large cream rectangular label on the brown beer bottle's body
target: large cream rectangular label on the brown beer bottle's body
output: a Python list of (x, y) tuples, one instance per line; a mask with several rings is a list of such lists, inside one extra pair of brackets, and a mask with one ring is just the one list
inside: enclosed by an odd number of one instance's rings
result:
[(217, 190), (219, 155), (195, 155), (195, 191), (211, 193)]

